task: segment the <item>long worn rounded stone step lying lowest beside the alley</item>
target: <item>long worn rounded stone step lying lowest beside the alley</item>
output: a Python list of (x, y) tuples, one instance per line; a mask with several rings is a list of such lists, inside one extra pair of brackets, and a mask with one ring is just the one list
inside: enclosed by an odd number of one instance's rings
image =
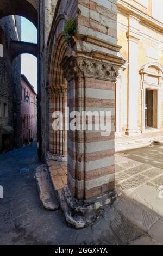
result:
[(51, 211), (58, 210), (59, 202), (55, 196), (51, 178), (45, 164), (37, 167), (35, 176), (43, 208)]

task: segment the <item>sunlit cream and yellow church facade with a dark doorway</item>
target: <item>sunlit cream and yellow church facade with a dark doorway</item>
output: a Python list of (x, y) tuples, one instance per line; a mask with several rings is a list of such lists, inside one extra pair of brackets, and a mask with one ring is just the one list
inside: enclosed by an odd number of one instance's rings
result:
[(119, 54), (126, 63), (116, 83), (117, 136), (163, 129), (162, 7), (163, 1), (118, 1)]

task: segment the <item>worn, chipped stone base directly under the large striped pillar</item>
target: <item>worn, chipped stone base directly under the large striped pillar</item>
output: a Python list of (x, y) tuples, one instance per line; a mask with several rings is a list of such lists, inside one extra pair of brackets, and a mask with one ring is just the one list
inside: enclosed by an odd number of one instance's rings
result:
[(105, 206), (111, 205), (116, 199), (116, 193), (111, 191), (91, 201), (83, 202), (74, 199), (68, 186), (65, 185), (58, 193), (58, 198), (68, 224), (80, 229), (101, 217)]

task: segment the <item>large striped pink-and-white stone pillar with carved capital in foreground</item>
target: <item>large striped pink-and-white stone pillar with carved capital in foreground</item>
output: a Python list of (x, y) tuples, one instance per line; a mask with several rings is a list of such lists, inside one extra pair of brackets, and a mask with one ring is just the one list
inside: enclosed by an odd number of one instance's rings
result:
[(106, 111), (111, 113), (108, 133), (68, 131), (68, 188), (78, 200), (114, 194), (115, 82), (121, 64), (118, 57), (107, 62), (83, 56), (65, 57), (61, 63), (68, 81), (70, 114), (104, 111), (104, 121)]

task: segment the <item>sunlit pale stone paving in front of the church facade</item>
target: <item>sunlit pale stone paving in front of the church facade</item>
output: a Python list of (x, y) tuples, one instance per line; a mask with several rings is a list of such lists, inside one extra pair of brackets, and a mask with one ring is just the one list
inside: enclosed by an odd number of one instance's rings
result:
[(116, 154), (115, 183), (124, 195), (163, 218), (163, 146)]

